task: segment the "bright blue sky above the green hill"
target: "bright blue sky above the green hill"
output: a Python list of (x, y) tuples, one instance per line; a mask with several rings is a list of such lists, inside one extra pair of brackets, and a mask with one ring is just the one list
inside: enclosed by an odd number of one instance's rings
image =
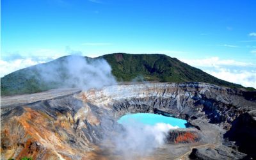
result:
[(1, 67), (73, 53), (163, 53), (228, 81), (231, 75), (220, 75), (246, 73), (235, 82), (256, 87), (255, 6), (254, 0), (1, 0)]

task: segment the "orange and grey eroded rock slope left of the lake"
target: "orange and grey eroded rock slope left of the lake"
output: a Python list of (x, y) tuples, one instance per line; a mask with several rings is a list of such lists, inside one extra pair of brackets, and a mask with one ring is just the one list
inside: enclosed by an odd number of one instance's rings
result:
[(90, 159), (87, 152), (104, 130), (100, 115), (108, 112), (72, 95), (1, 108), (1, 113), (1, 159)]

